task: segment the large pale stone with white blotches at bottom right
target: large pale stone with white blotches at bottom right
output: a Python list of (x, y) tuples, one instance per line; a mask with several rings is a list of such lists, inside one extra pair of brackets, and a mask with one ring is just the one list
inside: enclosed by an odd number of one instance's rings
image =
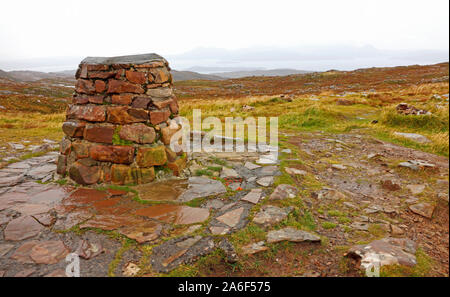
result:
[(407, 238), (383, 238), (366, 245), (356, 245), (347, 253), (347, 257), (361, 259), (361, 269), (384, 265), (414, 266), (416, 244)]

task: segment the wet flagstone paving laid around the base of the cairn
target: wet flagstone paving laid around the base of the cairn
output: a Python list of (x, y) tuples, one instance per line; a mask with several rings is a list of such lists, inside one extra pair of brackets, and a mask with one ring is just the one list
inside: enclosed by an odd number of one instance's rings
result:
[[(233, 245), (215, 236), (244, 228), (280, 175), (273, 153), (194, 153), (184, 178), (87, 188), (58, 183), (56, 157), (51, 152), (0, 169), (0, 276), (66, 276), (71, 253), (80, 258), (81, 276), (138, 274), (139, 250), (123, 253), (111, 272), (123, 248), (114, 236), (152, 246), (156, 273), (216, 249), (236, 261)], [(213, 169), (198, 174), (205, 168)], [(265, 226), (289, 213), (262, 211)], [(263, 243), (258, 248), (264, 250)]]

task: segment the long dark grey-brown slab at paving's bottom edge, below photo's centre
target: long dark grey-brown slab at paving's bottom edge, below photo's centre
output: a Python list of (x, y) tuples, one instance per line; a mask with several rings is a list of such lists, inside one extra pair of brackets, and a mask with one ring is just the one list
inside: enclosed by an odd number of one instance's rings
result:
[(167, 273), (181, 264), (194, 262), (216, 248), (211, 237), (181, 237), (171, 239), (152, 250), (150, 263), (156, 272)]

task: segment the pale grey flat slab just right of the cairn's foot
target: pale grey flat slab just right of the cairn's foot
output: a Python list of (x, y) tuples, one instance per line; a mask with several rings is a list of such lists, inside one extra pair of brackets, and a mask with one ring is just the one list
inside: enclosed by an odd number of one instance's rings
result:
[(225, 186), (218, 180), (190, 177), (188, 189), (179, 196), (178, 200), (188, 202), (196, 198), (223, 194), (226, 191)]

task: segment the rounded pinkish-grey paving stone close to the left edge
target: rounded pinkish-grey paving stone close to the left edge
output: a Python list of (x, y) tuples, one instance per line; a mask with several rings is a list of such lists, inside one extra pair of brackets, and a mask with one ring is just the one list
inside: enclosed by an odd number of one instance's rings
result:
[(5, 240), (19, 241), (38, 235), (44, 227), (31, 216), (22, 216), (8, 223), (5, 228)]

